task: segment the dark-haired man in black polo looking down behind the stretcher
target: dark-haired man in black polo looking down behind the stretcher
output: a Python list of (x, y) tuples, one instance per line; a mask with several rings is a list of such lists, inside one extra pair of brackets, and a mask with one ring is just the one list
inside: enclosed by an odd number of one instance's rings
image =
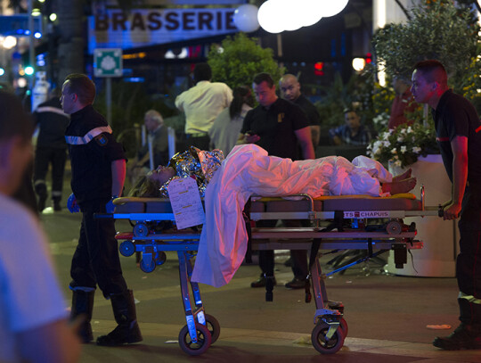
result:
[[(257, 144), (269, 155), (289, 158), (293, 161), (314, 159), (311, 129), (306, 114), (297, 105), (275, 94), (273, 78), (268, 73), (257, 74), (252, 88), (259, 105), (247, 113), (240, 129), (240, 143)], [(302, 155), (299, 154), (299, 144)], [(276, 221), (262, 222), (263, 227), (273, 227)], [(270, 278), (275, 285), (273, 251), (259, 252), (259, 266), (263, 273), (251, 286), (265, 286), (267, 278)], [(303, 275), (305, 273), (306, 271), (302, 272)], [(294, 274), (296, 275), (296, 271)], [(296, 277), (306, 279), (306, 276), (295, 276), (295, 279)]]

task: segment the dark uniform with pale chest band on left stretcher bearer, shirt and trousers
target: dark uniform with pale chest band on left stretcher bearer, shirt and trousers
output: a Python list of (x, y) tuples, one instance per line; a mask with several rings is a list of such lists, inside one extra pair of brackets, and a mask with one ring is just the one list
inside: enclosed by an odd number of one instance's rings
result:
[(71, 187), (83, 213), (70, 288), (94, 291), (99, 285), (105, 297), (126, 293), (114, 220), (94, 219), (94, 213), (106, 211), (105, 204), (112, 197), (111, 163), (126, 159), (123, 147), (92, 105), (70, 115), (65, 139), (72, 168)]

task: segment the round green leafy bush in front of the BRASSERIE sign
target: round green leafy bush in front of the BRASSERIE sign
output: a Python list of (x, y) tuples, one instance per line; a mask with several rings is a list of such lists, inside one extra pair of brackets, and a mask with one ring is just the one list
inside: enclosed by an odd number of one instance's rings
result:
[(284, 68), (273, 59), (273, 50), (261, 47), (257, 38), (249, 38), (245, 33), (226, 37), (220, 47), (212, 47), (208, 64), (212, 68), (212, 80), (224, 82), (232, 89), (250, 85), (260, 72), (270, 73), (274, 82), (284, 74)]

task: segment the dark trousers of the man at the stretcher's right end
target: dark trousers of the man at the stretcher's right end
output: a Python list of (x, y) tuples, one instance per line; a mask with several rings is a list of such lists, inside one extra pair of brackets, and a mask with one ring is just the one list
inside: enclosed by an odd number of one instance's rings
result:
[[(477, 186), (477, 189), (480, 189)], [(462, 201), (456, 278), (462, 293), (481, 299), (481, 190), (466, 188)], [(481, 321), (481, 317), (480, 317)]]

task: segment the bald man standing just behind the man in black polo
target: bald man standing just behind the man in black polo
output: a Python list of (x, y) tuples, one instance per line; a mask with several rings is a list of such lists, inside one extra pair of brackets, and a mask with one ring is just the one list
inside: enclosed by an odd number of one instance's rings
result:
[(319, 116), (319, 112), (314, 104), (305, 95), (302, 95), (298, 78), (293, 74), (283, 75), (279, 80), (279, 88), (283, 99), (297, 104), (306, 113), (315, 150), (321, 137), (321, 116)]

